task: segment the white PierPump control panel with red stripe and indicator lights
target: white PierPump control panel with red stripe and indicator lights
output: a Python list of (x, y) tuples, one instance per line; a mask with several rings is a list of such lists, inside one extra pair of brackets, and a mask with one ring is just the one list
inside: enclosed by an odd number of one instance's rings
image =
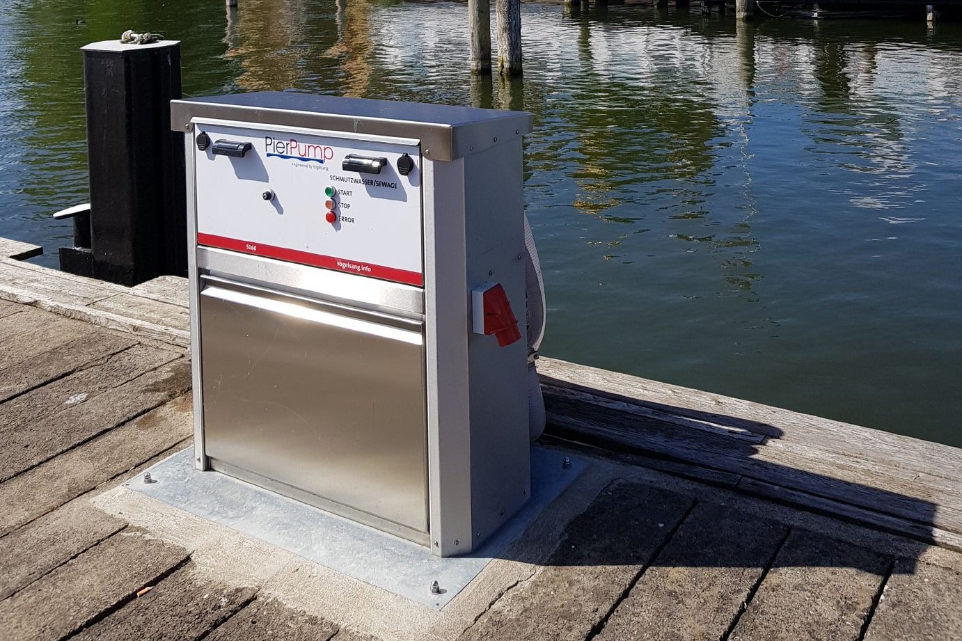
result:
[(193, 141), (197, 244), (423, 287), (415, 141), (203, 121)]

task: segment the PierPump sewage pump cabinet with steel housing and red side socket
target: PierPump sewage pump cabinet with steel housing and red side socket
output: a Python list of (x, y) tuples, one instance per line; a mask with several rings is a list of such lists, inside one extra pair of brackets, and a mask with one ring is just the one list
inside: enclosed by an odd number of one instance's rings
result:
[(196, 467), (474, 550), (530, 495), (531, 116), (262, 92), (171, 120)]

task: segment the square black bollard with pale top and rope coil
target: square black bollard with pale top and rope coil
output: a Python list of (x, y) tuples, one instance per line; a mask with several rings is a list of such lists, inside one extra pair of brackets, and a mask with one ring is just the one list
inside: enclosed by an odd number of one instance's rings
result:
[(186, 275), (184, 137), (170, 131), (170, 100), (181, 97), (180, 43), (108, 40), (83, 51), (89, 275), (123, 285)]

